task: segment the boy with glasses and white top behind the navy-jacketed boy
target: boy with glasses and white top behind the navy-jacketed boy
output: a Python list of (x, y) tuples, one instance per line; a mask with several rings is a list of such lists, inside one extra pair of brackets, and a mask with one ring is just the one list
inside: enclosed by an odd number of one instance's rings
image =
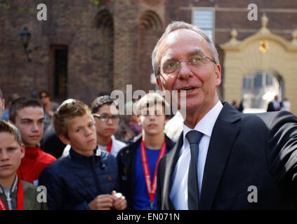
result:
[[(114, 137), (114, 132), (119, 125), (119, 109), (112, 105), (113, 102), (114, 99), (107, 95), (97, 97), (92, 103), (91, 113), (95, 117), (97, 145), (100, 150), (107, 151), (117, 157), (117, 153), (126, 144)], [(66, 146), (63, 156), (68, 155), (69, 151), (70, 145)]]

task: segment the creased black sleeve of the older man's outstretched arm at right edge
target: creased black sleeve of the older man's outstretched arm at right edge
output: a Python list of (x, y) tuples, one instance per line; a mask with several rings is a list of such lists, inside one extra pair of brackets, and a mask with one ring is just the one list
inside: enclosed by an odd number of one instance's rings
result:
[(297, 118), (287, 111), (266, 117), (270, 172), (278, 183), (297, 195)]

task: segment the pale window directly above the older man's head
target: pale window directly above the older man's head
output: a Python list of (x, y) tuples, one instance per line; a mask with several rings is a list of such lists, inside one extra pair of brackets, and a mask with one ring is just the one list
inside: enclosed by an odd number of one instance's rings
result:
[(213, 17), (212, 9), (194, 9), (193, 23), (199, 29), (202, 29), (213, 41)]

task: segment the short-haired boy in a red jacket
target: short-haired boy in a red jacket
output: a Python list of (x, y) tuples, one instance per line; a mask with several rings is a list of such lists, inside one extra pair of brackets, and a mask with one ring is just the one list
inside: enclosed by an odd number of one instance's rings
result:
[(39, 148), (39, 140), (44, 134), (44, 110), (37, 99), (20, 97), (9, 108), (9, 120), (18, 127), (25, 145), (25, 157), (22, 158), (18, 174), (23, 181), (39, 185), (41, 172), (55, 157)]

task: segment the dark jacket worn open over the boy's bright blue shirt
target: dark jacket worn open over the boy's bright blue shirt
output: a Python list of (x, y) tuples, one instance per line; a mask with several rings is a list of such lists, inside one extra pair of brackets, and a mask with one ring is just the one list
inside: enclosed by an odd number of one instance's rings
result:
[[(141, 134), (138, 135), (117, 154), (120, 192), (126, 197), (128, 210), (133, 209), (134, 204), (136, 153), (142, 138)], [(166, 134), (165, 141), (169, 152), (176, 143), (169, 139)]]

